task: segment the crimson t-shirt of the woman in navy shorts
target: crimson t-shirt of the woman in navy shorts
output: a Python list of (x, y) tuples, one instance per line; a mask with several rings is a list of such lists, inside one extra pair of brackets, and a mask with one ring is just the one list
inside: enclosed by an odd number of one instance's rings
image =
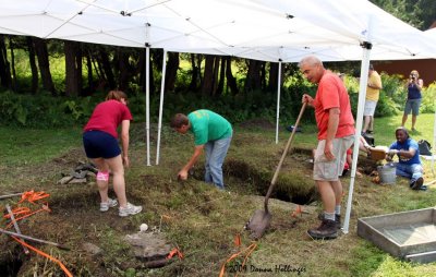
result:
[(107, 100), (97, 105), (83, 131), (102, 131), (117, 138), (117, 128), (123, 120), (132, 119), (128, 106), (117, 100)]

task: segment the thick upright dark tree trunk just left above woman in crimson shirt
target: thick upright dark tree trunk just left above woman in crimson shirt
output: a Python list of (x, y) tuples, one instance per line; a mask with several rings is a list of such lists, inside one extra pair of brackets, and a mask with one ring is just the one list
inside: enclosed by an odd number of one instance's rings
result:
[(65, 53), (65, 95), (77, 96), (81, 91), (80, 79), (82, 79), (82, 67), (77, 61), (78, 43), (65, 40), (63, 50)]

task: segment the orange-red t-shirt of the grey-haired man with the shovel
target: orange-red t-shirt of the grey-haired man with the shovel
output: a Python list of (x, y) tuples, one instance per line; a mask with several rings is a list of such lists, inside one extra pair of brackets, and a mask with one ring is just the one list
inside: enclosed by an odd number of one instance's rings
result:
[(315, 119), (318, 125), (318, 141), (327, 138), (328, 112), (339, 108), (339, 125), (335, 137), (354, 134), (354, 119), (351, 113), (350, 97), (342, 81), (331, 71), (326, 71), (319, 81), (314, 100)]

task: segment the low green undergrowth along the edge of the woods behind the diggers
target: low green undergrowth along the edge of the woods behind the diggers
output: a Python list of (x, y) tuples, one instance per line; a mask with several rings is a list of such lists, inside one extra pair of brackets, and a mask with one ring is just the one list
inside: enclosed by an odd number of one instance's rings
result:
[[(376, 117), (388, 117), (401, 113), (407, 98), (407, 91), (400, 76), (382, 74), (384, 88), (376, 109)], [(346, 76), (346, 86), (350, 94), (351, 107), (354, 116), (358, 110), (359, 81)], [(187, 86), (187, 85), (186, 85)], [(288, 76), (286, 85), (280, 92), (280, 121), (289, 124), (293, 122), (301, 109), (301, 97), (306, 93), (315, 96), (316, 86), (308, 83), (295, 73)], [(70, 127), (83, 125), (90, 117), (95, 106), (102, 101), (104, 92), (95, 93), (88, 97), (51, 96), (48, 92), (38, 95), (16, 94), (11, 91), (0, 93), (0, 123), (16, 127)], [(423, 89), (422, 112), (434, 111), (436, 85)], [(150, 95), (149, 116), (150, 122), (157, 122), (159, 115), (160, 97)], [(145, 118), (146, 97), (140, 87), (129, 92), (129, 108), (136, 122)], [(220, 96), (198, 95), (198, 93), (167, 93), (164, 101), (164, 124), (169, 122), (177, 112), (189, 113), (196, 109), (214, 110), (232, 123), (240, 123), (252, 119), (276, 121), (277, 92), (254, 91), (226, 94)], [(303, 122), (314, 121), (313, 109), (307, 109), (303, 115)]]

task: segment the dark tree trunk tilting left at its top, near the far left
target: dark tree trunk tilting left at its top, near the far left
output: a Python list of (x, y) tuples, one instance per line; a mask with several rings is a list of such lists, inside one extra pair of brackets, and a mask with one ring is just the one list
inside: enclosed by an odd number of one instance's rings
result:
[(39, 72), (41, 74), (44, 89), (56, 96), (53, 80), (50, 73), (50, 62), (48, 59), (47, 43), (41, 38), (34, 37), (35, 52), (38, 58)]

